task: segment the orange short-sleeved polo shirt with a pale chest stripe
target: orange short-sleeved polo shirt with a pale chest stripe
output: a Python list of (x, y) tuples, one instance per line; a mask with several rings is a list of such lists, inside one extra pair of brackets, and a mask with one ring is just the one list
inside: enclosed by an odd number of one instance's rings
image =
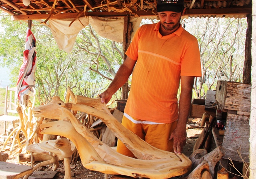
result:
[(171, 123), (178, 119), (180, 76), (201, 76), (196, 37), (181, 25), (162, 36), (160, 22), (141, 26), (126, 55), (137, 60), (124, 112), (140, 120)]

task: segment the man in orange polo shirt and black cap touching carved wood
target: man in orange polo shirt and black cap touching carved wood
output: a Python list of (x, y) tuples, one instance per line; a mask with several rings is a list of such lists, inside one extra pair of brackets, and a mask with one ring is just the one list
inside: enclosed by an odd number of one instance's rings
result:
[[(200, 53), (196, 37), (180, 24), (183, 0), (158, 0), (156, 10), (160, 22), (136, 31), (128, 57), (100, 96), (109, 102), (133, 72), (122, 125), (156, 148), (181, 154), (194, 77), (201, 76)], [(120, 140), (117, 151), (134, 157)]]

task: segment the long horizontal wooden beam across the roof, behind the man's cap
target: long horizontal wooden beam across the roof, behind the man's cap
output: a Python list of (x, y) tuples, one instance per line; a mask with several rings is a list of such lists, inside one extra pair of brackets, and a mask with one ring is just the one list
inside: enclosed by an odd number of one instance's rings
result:
[[(63, 13), (54, 16), (52, 14), (50, 19), (66, 19), (66, 18), (76, 18), (78, 13)], [(124, 17), (131, 16), (128, 12), (86, 12), (86, 16), (98, 16), (98, 17)], [(156, 16), (156, 11), (136, 11), (138, 16)], [(214, 16), (214, 15), (223, 15), (223, 14), (252, 14), (252, 8), (220, 8), (220, 9), (190, 9), (186, 10), (185, 16)], [(12, 16), (12, 20), (37, 20), (37, 19), (46, 19), (49, 14), (31, 14), (31, 15), (19, 15)], [(84, 16), (81, 14), (80, 17)]]

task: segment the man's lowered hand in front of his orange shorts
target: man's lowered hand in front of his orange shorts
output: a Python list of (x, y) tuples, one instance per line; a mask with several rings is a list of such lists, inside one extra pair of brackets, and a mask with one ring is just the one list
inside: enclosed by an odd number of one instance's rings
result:
[(173, 149), (174, 149), (174, 153), (178, 153), (181, 154), (183, 147), (186, 144), (186, 139), (187, 139), (187, 132), (186, 132), (186, 128), (185, 129), (181, 129), (181, 128), (176, 128), (169, 140), (173, 139)]

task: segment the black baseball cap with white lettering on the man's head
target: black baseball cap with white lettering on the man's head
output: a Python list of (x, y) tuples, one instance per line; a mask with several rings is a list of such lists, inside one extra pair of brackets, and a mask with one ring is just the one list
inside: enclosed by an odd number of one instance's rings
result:
[(156, 5), (156, 12), (182, 12), (183, 8), (184, 0), (158, 0)]

